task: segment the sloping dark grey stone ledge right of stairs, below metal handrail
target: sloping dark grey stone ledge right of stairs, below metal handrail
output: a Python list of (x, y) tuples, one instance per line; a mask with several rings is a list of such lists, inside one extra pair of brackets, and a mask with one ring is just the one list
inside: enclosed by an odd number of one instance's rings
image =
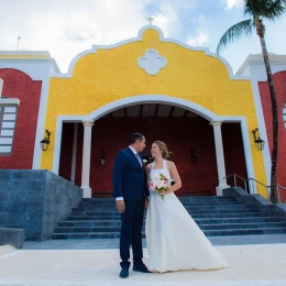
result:
[(232, 187), (222, 190), (223, 196), (234, 197), (244, 205), (253, 205), (258, 210), (272, 217), (280, 217), (286, 219), (285, 204), (272, 204), (258, 194), (248, 194), (240, 187)]

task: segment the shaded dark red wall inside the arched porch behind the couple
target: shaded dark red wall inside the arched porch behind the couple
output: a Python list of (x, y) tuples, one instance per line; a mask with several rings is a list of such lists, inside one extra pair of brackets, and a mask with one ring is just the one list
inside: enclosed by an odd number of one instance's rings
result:
[[(69, 127), (67, 127), (69, 125)], [(65, 124), (61, 157), (59, 175), (70, 179), (70, 157), (73, 139), (70, 132), (74, 124)], [(133, 132), (142, 132), (146, 138), (147, 148), (154, 140), (165, 141), (174, 153), (175, 162), (180, 174), (182, 190), (211, 190), (216, 195), (217, 162), (213, 141), (213, 129), (201, 118), (162, 119), (157, 118), (151, 125), (146, 119), (105, 118), (92, 128), (92, 150), (90, 167), (90, 187), (94, 191), (112, 191), (112, 169), (117, 152), (129, 145)], [(226, 150), (227, 173), (244, 176), (245, 161), (239, 124), (226, 124), (222, 129)], [(78, 129), (78, 151), (76, 180), (80, 185), (82, 162), (84, 127)], [(234, 144), (233, 144), (234, 142)], [(106, 150), (106, 165), (101, 166), (99, 157)], [(197, 163), (190, 163), (190, 148), (197, 156)], [(180, 195), (180, 190), (177, 191)]]

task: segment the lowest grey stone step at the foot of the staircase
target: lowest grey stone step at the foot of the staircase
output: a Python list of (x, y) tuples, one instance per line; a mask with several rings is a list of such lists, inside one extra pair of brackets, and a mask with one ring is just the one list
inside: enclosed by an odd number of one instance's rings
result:
[[(286, 233), (285, 228), (263, 228), (263, 229), (235, 229), (235, 230), (205, 230), (207, 237), (229, 237), (229, 235), (250, 235), (250, 234), (282, 234)], [(82, 232), (82, 233), (53, 233), (54, 240), (66, 239), (119, 239), (119, 232)], [(144, 238), (145, 234), (142, 233)]]

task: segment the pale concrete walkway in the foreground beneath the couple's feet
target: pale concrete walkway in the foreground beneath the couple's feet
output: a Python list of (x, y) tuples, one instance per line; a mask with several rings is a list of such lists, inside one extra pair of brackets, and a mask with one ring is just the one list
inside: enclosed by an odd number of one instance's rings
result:
[(128, 279), (118, 276), (118, 250), (10, 249), (10, 253), (0, 251), (0, 286), (286, 286), (286, 243), (216, 248), (230, 263), (228, 268), (165, 274), (131, 271)]

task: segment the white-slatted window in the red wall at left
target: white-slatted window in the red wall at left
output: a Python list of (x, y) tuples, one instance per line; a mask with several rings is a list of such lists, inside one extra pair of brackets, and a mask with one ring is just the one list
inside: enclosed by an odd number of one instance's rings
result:
[(16, 106), (0, 106), (0, 155), (10, 155), (12, 152)]

